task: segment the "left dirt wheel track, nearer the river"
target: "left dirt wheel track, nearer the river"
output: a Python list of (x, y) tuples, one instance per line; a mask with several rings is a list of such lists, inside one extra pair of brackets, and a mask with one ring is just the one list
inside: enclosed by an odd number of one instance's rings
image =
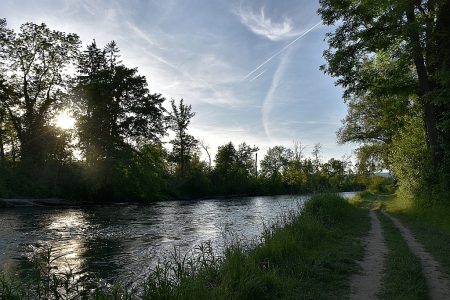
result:
[(369, 213), (372, 228), (365, 239), (366, 253), (360, 262), (362, 272), (350, 280), (350, 299), (377, 299), (381, 288), (383, 264), (387, 253), (383, 229), (373, 211)]

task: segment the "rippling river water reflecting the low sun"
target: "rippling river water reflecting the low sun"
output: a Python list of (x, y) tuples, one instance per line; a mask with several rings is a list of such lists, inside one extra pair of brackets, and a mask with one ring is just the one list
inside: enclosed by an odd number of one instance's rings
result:
[[(351, 196), (353, 193), (343, 193)], [(148, 205), (0, 209), (0, 271), (20, 273), (45, 249), (60, 270), (112, 282), (142, 278), (176, 247), (211, 241), (220, 254), (230, 236), (258, 241), (264, 224), (301, 208), (308, 196), (166, 201)]]

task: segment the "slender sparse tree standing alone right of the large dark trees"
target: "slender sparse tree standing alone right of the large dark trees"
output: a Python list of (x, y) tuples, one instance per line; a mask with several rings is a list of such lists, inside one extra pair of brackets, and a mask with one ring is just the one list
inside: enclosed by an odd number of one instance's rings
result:
[(175, 100), (172, 99), (170, 103), (172, 111), (169, 116), (169, 126), (175, 131), (175, 138), (170, 141), (172, 143), (171, 157), (178, 164), (181, 176), (185, 176), (189, 161), (198, 144), (198, 141), (187, 133), (188, 126), (195, 113), (192, 112), (191, 105), (183, 103), (183, 99), (180, 100), (178, 107)]

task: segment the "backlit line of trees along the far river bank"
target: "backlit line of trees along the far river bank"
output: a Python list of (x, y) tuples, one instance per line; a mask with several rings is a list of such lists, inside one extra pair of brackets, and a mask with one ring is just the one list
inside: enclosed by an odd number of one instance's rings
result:
[[(313, 159), (304, 148), (227, 143), (211, 158), (188, 133), (191, 105), (151, 93), (114, 41), (81, 49), (76, 34), (0, 19), (0, 197), (87, 201), (157, 200), (211, 195), (361, 189), (367, 177), (348, 160)], [(74, 129), (55, 125), (62, 111)], [(172, 131), (170, 150), (163, 138)], [(203, 149), (209, 161), (200, 159)], [(212, 161), (214, 160), (214, 165)]]

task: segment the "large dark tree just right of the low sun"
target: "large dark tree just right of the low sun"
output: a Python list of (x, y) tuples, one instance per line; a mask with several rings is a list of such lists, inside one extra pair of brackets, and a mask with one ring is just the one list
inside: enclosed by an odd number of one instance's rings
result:
[(114, 41), (100, 50), (95, 41), (78, 61), (73, 98), (79, 140), (88, 164), (111, 160), (165, 135), (164, 98), (150, 94), (144, 76), (118, 60)]

